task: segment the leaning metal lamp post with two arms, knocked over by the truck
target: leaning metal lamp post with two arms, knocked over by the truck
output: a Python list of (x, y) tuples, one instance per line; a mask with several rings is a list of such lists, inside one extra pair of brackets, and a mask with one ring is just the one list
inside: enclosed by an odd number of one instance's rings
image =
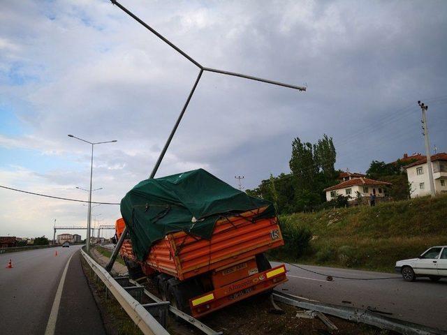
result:
[[(154, 178), (157, 170), (159, 170), (161, 161), (163, 161), (163, 157), (165, 156), (166, 151), (168, 150), (168, 147), (169, 147), (169, 144), (170, 144), (171, 140), (173, 140), (173, 137), (175, 135), (175, 131), (177, 131), (177, 128), (178, 128), (178, 126), (180, 124), (180, 121), (182, 121), (182, 117), (184, 115), (184, 112), (186, 111), (186, 107), (188, 107), (189, 101), (191, 101), (191, 97), (193, 96), (194, 91), (196, 91), (197, 84), (200, 81), (200, 77), (202, 77), (203, 71), (220, 73), (222, 75), (231, 75), (233, 77), (241, 77), (241, 78), (245, 78), (245, 79), (249, 79), (249, 80), (256, 80), (258, 82), (265, 82), (267, 84), (273, 84), (273, 85), (278, 85), (278, 86), (282, 86), (282, 87), (288, 87), (290, 89), (296, 89), (298, 91), (306, 91), (306, 89), (307, 89), (306, 87), (300, 87), (300, 86), (296, 86), (296, 85), (292, 85), (292, 84), (285, 84), (283, 82), (276, 82), (274, 80), (268, 80), (268, 79), (263, 79), (263, 78), (259, 78), (259, 77), (254, 77), (252, 75), (243, 75), (242, 73), (234, 73), (234, 72), (229, 72), (229, 71), (224, 71), (224, 70), (218, 70), (218, 69), (215, 69), (215, 68), (206, 68), (206, 67), (202, 66), (201, 64), (199, 64), (198, 61), (193, 59), (191, 56), (189, 56), (189, 54), (186, 54), (186, 52), (184, 52), (179, 47), (177, 47), (177, 45), (175, 45), (174, 43), (170, 42), (170, 40), (168, 40), (168, 38), (164, 37), (158, 31), (156, 31), (154, 28), (150, 27), (149, 24), (147, 24), (146, 22), (141, 20), (140, 17), (138, 17), (137, 15), (133, 14), (126, 7), (122, 6), (121, 3), (119, 3), (118, 1), (115, 1), (115, 0), (110, 0), (110, 2), (112, 2), (112, 4), (114, 4), (115, 6), (120, 8), (121, 10), (123, 10), (124, 13), (128, 14), (129, 16), (131, 16), (135, 21), (140, 23), (147, 30), (151, 31), (152, 34), (156, 35), (158, 38), (163, 40), (164, 43), (168, 44), (175, 51), (177, 51), (179, 54), (181, 54), (184, 58), (186, 58), (189, 61), (191, 61), (192, 64), (194, 64), (195, 66), (200, 68), (200, 72), (198, 74), (196, 82), (194, 83), (193, 88), (191, 89), (191, 92), (189, 93), (189, 96), (186, 99), (186, 102), (184, 103), (182, 112), (180, 112), (179, 117), (177, 118), (177, 121), (175, 122), (173, 130), (170, 132), (168, 140), (166, 141), (166, 144), (165, 144), (165, 146), (163, 147), (163, 150), (160, 153), (159, 159), (157, 159), (157, 161), (155, 163), (154, 169), (152, 170), (152, 172), (151, 172), (151, 174), (149, 176), (149, 179)], [(127, 226), (125, 226), (121, 236), (119, 237), (119, 240), (117, 241), (117, 245), (115, 246), (115, 249), (113, 250), (112, 255), (110, 256), (110, 260), (108, 262), (108, 265), (106, 265), (106, 267), (105, 267), (105, 269), (107, 271), (110, 271), (112, 269), (113, 264), (115, 263), (115, 260), (117, 258), (119, 249), (122, 247), (122, 244), (124, 243), (124, 239), (126, 239), (126, 236), (127, 236), (128, 232), (129, 231), (127, 230)]]

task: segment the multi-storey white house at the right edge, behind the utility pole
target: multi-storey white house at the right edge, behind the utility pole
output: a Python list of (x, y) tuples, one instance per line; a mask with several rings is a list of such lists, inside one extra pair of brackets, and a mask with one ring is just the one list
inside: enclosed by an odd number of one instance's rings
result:
[[(439, 153), (431, 156), (434, 179), (434, 192), (447, 193), (447, 154)], [(427, 158), (406, 165), (406, 175), (411, 187), (411, 198), (430, 195)]]

